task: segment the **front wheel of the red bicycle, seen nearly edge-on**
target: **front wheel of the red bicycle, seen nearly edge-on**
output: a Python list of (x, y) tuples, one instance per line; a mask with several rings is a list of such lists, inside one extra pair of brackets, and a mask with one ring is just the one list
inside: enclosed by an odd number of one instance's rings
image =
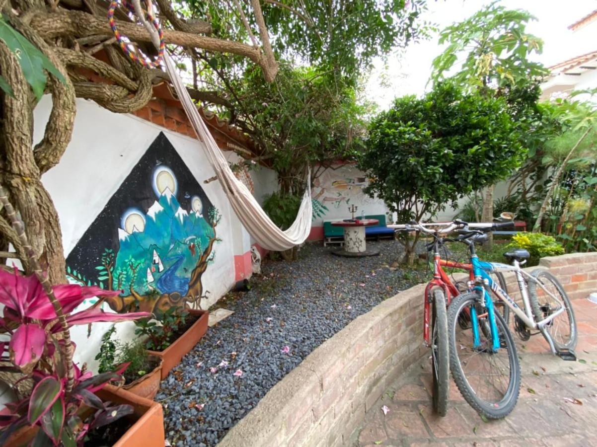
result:
[(431, 364), (433, 370), (433, 409), (440, 416), (448, 411), (450, 391), (450, 348), (448, 347), (448, 313), (441, 289), (433, 291)]

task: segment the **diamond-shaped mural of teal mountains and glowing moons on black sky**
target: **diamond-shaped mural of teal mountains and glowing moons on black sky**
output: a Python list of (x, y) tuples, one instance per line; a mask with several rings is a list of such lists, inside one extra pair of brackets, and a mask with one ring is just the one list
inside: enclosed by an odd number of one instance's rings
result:
[[(220, 213), (159, 134), (67, 257), (73, 282), (123, 292), (116, 312), (200, 307)], [(96, 303), (97, 304), (97, 303)]]

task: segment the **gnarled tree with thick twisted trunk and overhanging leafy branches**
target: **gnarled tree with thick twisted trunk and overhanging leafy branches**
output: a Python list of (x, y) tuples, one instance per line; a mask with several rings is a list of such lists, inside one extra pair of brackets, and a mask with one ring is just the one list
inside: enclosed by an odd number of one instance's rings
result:
[[(193, 98), (226, 105), (226, 98), (213, 87), (198, 82), (202, 73), (225, 72), (221, 82), (226, 84), (236, 67), (238, 75), (254, 66), (271, 82), (279, 69), (275, 52), (356, 73), (396, 42), (417, 37), (416, 19), (424, 0), (411, 0), (408, 7), (405, 0), (156, 3), (165, 43), (181, 60), (181, 68), (183, 61), (192, 64)], [(167, 75), (124, 56), (106, 19), (105, 3), (13, 0), (0, 2), (0, 9), (0, 182), (20, 212), (51, 281), (64, 282), (59, 219), (41, 176), (59, 163), (70, 141), (75, 98), (130, 113), (150, 100), (153, 84)], [(155, 54), (149, 33), (121, 4), (116, 5), (115, 24), (128, 36), (129, 48)], [(276, 36), (273, 41), (268, 27)], [(43, 93), (51, 94), (53, 107), (44, 135), (34, 145), (33, 109)], [(230, 118), (241, 125), (234, 119), (236, 107), (230, 107)], [(4, 215), (0, 235), (0, 249), (13, 245), (19, 257), (26, 258)], [(27, 264), (24, 267), (29, 270)]]

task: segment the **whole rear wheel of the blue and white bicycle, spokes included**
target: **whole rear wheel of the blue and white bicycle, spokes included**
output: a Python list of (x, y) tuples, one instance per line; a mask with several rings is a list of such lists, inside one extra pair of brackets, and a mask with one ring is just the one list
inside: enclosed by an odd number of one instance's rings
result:
[(570, 298), (568, 298), (564, 288), (555, 276), (547, 272), (547, 270), (533, 270), (531, 276), (543, 285), (549, 294), (557, 298), (554, 299), (547, 294), (533, 280), (528, 281), (529, 301), (531, 302), (531, 309), (533, 309), (535, 319), (539, 322), (564, 306), (565, 311), (547, 323), (545, 329), (552, 338), (556, 349), (574, 349), (576, 346), (577, 331), (576, 319), (574, 318)]

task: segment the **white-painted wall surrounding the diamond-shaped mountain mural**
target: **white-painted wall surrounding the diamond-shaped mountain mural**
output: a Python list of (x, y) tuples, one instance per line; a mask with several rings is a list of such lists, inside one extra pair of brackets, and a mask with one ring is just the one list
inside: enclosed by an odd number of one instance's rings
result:
[[(76, 106), (72, 140), (59, 165), (42, 178), (60, 217), (65, 256), (75, 247), (159, 132), (164, 132), (221, 213), (217, 232), (223, 242), (214, 247), (215, 261), (202, 277), (204, 290), (211, 292), (210, 300), (202, 302), (202, 307), (213, 304), (234, 282), (234, 255), (247, 251), (250, 245), (248, 235), (233, 214), (219, 182), (203, 183), (214, 175), (214, 171), (204, 155), (202, 143), (136, 116), (109, 112), (91, 101), (78, 99)], [(42, 137), (50, 109), (51, 97), (45, 95), (35, 109), (36, 140)], [(104, 304), (104, 309), (109, 310), (109, 307)], [(73, 340), (78, 346), (76, 361), (88, 362), (92, 369), (95, 368), (97, 362), (94, 357), (99, 351), (101, 335), (109, 326), (107, 323), (94, 324), (90, 337), (87, 336), (87, 326), (73, 328)], [(133, 327), (132, 323), (118, 323), (118, 333), (130, 340)]]

